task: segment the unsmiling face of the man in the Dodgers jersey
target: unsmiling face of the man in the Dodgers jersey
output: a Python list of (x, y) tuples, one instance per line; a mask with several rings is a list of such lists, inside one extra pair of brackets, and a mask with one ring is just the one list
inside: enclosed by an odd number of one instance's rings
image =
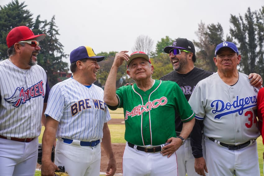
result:
[(229, 47), (223, 47), (214, 57), (214, 62), (220, 72), (236, 71), (237, 65), (241, 60), (241, 56)]

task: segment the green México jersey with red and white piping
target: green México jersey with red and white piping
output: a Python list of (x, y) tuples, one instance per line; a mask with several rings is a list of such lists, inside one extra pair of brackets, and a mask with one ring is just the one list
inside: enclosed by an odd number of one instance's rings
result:
[(157, 146), (176, 137), (175, 109), (184, 122), (194, 117), (180, 87), (172, 81), (155, 80), (146, 92), (136, 84), (123, 86), (116, 95), (119, 107), (124, 108), (125, 140), (135, 145)]

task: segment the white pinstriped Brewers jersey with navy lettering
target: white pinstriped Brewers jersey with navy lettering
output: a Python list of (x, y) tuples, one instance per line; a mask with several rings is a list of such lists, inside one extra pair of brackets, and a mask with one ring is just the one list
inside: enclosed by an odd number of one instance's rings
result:
[(51, 88), (45, 115), (59, 122), (57, 138), (81, 141), (101, 139), (103, 125), (111, 119), (102, 88), (87, 88), (73, 78)]

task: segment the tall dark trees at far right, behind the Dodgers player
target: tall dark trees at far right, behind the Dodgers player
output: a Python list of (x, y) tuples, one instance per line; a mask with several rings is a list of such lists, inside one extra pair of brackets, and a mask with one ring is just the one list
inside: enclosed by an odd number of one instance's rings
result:
[(263, 64), (263, 8), (253, 12), (248, 7), (244, 17), (231, 15), (230, 18), (230, 34), (238, 41), (237, 46), (242, 57), (240, 70), (245, 74), (260, 71), (263, 75), (263, 67), (256, 66), (259, 61)]

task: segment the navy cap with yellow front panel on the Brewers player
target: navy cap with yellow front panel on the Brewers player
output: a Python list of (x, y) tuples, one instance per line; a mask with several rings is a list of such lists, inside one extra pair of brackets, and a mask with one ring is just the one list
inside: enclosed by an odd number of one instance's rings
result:
[(104, 60), (105, 56), (96, 56), (93, 48), (88, 46), (80, 46), (70, 53), (70, 62), (76, 62), (85, 58), (95, 58), (98, 62)]

